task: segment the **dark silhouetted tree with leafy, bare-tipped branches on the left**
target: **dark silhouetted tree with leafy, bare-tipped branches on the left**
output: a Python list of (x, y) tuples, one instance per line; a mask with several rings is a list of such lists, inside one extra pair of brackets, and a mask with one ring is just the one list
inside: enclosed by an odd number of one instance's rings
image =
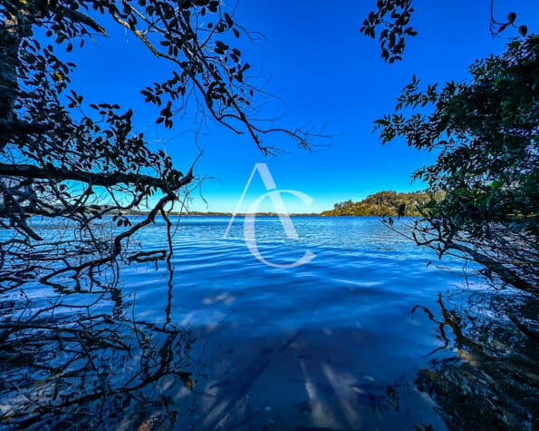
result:
[[(272, 132), (308, 146), (308, 133), (264, 128), (253, 119), (257, 90), (245, 74), (250, 65), (233, 47), (236, 38), (249, 34), (215, 0), (2, 2), (2, 284), (91, 274), (111, 264), (125, 254), (133, 234), (157, 216), (170, 227), (168, 211), (193, 181), (192, 164), (179, 171), (165, 152), (149, 149), (134, 130), (131, 109), (86, 104), (72, 90), (75, 64), (56, 52), (106, 34), (101, 18), (124, 27), (169, 65), (167, 80), (141, 90), (147, 103), (159, 107), (158, 124), (172, 128), (175, 113), (194, 107), (232, 132), (245, 133), (264, 153), (274, 150), (262, 139)], [(142, 204), (149, 210), (143, 220), (126, 217)], [(114, 216), (114, 229), (103, 222), (107, 215)], [(50, 224), (35, 223), (35, 216), (54, 220), (62, 234), (48, 235)], [(166, 251), (137, 259), (163, 257)]]

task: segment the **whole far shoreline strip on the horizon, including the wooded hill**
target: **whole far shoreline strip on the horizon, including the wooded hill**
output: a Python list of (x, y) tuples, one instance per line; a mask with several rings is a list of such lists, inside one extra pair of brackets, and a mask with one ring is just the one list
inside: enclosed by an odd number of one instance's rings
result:
[[(430, 200), (430, 195), (425, 191), (378, 191), (369, 195), (367, 198), (353, 202), (351, 200), (335, 203), (332, 210), (322, 212), (293, 212), (288, 215), (291, 217), (334, 217), (334, 216), (398, 216), (406, 215), (417, 217), (419, 206), (424, 205)], [(111, 212), (111, 214), (115, 214)], [(143, 216), (148, 215), (149, 211), (127, 211), (122, 212), (125, 216)], [(183, 217), (232, 217), (233, 212), (219, 211), (186, 211), (182, 212)], [(245, 217), (245, 212), (236, 213), (236, 217)], [(256, 212), (257, 217), (279, 217), (284, 214), (278, 212)]]

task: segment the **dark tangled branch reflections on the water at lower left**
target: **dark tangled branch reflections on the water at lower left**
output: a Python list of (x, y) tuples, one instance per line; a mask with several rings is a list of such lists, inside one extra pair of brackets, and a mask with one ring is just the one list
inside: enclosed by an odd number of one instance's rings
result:
[(173, 397), (193, 405), (195, 338), (169, 318), (160, 326), (136, 319), (134, 300), (117, 286), (0, 294), (2, 426), (168, 429), (184, 414)]

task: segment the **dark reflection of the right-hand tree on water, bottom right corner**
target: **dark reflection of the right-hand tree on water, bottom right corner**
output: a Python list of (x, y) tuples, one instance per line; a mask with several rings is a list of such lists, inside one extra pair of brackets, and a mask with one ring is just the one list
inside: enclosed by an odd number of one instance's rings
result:
[[(515, 292), (438, 296), (438, 310), (417, 307), (451, 352), (420, 370), (416, 386), (437, 402), (449, 429), (539, 429), (537, 299)], [(441, 318), (435, 318), (438, 314)]]

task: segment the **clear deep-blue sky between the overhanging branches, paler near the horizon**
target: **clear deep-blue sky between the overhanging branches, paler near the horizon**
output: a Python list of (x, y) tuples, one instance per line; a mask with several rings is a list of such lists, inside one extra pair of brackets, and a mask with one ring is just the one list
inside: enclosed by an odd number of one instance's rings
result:
[[(234, 211), (255, 163), (267, 163), (279, 189), (297, 190), (313, 197), (311, 208), (293, 197), (285, 200), (291, 212), (323, 211), (337, 201), (358, 201), (376, 191), (412, 191), (415, 169), (432, 162), (434, 154), (409, 149), (403, 142), (382, 146), (372, 134), (372, 122), (390, 113), (400, 88), (416, 73), (423, 83), (467, 78), (475, 59), (501, 53), (508, 30), (499, 37), (488, 31), (489, 0), (415, 0), (412, 25), (419, 31), (409, 38), (404, 60), (385, 64), (380, 47), (360, 34), (359, 28), (374, 0), (240, 0), (235, 20), (265, 34), (260, 44), (238, 46), (253, 73), (271, 77), (265, 89), (278, 97), (266, 103), (261, 115), (277, 118), (284, 127), (325, 124), (331, 139), (317, 140), (313, 152), (295, 148), (283, 137), (266, 142), (285, 150), (264, 156), (244, 136), (209, 123), (197, 136), (189, 118), (177, 120), (173, 131), (155, 125), (159, 112), (143, 102), (140, 90), (166, 79), (170, 64), (152, 57), (123, 29), (107, 25), (109, 37), (95, 37), (82, 50), (63, 57), (77, 64), (73, 88), (86, 103), (120, 103), (135, 110), (136, 128), (154, 145), (165, 146), (180, 170), (188, 170), (204, 151), (196, 173), (209, 176), (193, 195), (196, 211)], [(225, 6), (235, 2), (226, 0)], [(500, 20), (510, 11), (517, 24), (537, 29), (539, 2), (496, 0)], [(230, 10), (230, 9), (228, 9)], [(255, 177), (240, 211), (265, 189)], [(205, 201), (197, 197), (198, 193)], [(269, 200), (260, 208), (272, 211)]]

